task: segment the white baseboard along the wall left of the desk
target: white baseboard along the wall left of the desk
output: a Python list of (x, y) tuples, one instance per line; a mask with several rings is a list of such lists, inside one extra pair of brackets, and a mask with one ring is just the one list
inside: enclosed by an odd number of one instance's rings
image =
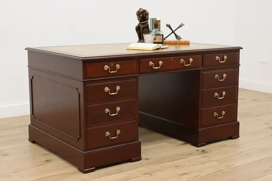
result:
[(30, 114), (29, 103), (0, 107), (0, 118)]

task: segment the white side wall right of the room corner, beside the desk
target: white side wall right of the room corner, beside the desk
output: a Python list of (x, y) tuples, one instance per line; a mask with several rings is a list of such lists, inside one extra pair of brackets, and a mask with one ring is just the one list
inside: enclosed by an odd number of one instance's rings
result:
[[(272, 2), (236, 1), (234, 44), (240, 53), (239, 87), (272, 93)], [(263, 62), (262, 62), (263, 61)]]

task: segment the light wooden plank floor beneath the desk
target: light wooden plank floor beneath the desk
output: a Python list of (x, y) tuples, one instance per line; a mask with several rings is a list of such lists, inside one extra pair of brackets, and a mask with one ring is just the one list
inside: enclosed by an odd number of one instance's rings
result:
[(0, 180), (270, 181), (272, 94), (239, 90), (240, 138), (196, 148), (140, 128), (142, 160), (83, 174), (28, 141), (29, 115), (0, 119)]

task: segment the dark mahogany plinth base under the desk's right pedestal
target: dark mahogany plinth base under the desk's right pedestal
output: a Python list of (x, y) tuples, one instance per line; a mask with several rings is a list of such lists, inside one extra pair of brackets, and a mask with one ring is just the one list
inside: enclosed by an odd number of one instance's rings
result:
[(196, 147), (205, 146), (210, 141), (239, 138), (238, 121), (209, 128), (193, 129), (157, 116), (139, 112), (139, 123), (147, 129), (188, 141)]

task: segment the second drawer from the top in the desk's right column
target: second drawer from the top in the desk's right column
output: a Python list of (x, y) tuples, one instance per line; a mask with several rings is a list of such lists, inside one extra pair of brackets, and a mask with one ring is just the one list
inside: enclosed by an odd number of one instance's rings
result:
[(202, 72), (202, 89), (237, 85), (238, 69)]

